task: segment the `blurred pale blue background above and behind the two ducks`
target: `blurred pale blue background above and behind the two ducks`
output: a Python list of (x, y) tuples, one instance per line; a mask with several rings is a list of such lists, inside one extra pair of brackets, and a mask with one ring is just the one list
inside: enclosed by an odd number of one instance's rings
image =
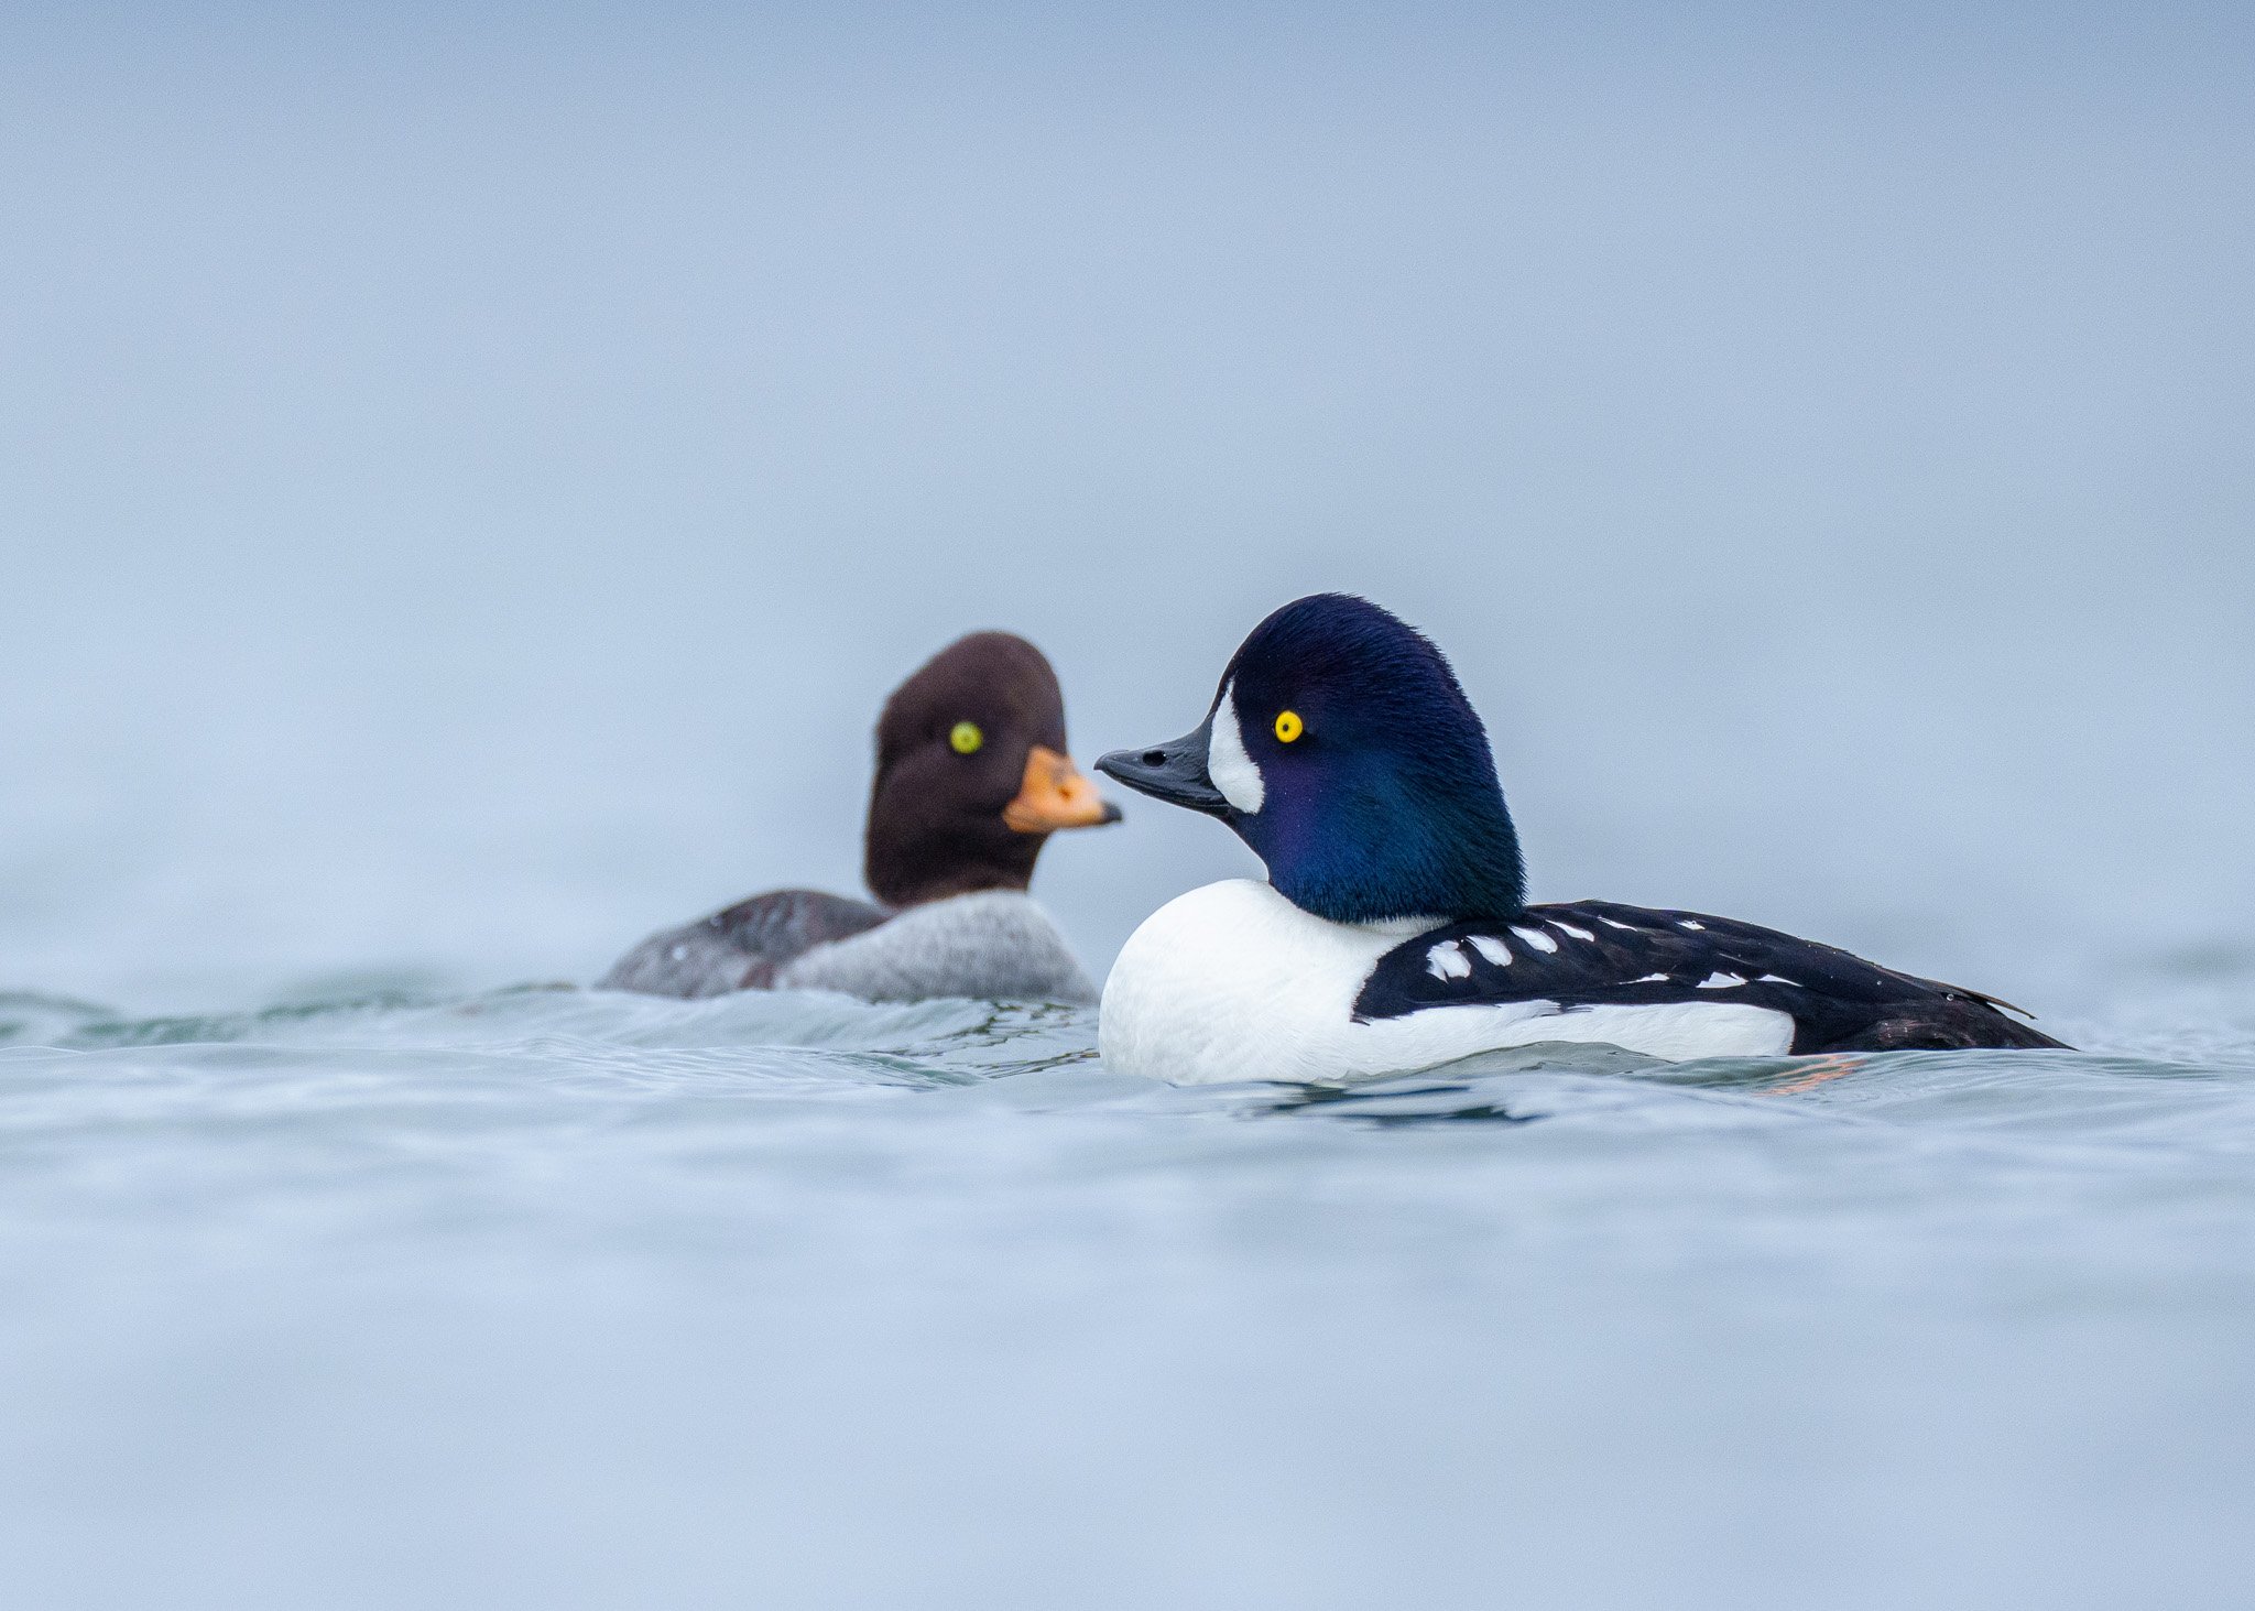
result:
[[(1545, 896), (2034, 991), (2248, 918), (2232, 7), (7, 27), (11, 984), (586, 977), (850, 887), (956, 632), (1091, 754), (1324, 587)], [(1042, 893), (1103, 966), (1243, 864)]]

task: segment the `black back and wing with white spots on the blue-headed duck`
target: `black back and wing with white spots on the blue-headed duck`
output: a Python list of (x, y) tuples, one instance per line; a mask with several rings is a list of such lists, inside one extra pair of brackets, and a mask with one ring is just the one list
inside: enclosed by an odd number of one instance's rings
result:
[(1527, 907), (1511, 923), (1452, 923), (1403, 941), (1362, 984), (1355, 1018), (1536, 1000), (1768, 1006), (1793, 1018), (1795, 1054), (2061, 1045), (1980, 991), (1752, 923), (1610, 900)]

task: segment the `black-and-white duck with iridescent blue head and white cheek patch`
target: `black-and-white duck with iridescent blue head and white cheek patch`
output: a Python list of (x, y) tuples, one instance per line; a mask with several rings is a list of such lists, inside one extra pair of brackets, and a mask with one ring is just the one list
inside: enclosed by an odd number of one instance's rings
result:
[(1330, 1081), (1540, 1040), (1669, 1060), (2059, 1045), (1978, 991), (1752, 923), (1527, 905), (1479, 715), (1441, 650), (1360, 598), (1285, 605), (1197, 731), (1096, 769), (1220, 817), (1270, 871), (1130, 936), (1098, 1024), (1112, 1069)]

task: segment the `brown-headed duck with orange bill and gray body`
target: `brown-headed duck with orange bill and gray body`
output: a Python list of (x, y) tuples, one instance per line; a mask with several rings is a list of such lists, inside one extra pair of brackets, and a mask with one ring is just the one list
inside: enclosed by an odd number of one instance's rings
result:
[(753, 896), (652, 934), (598, 988), (1094, 1002), (1026, 884), (1051, 833), (1118, 815), (1067, 756), (1064, 695), (1042, 650), (974, 632), (877, 718), (864, 878), (882, 905), (814, 889)]

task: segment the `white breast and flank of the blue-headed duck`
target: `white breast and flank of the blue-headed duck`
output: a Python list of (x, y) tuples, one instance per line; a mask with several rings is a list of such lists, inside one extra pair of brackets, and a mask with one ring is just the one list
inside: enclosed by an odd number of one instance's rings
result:
[(1538, 1040), (1601, 1040), (1657, 1058), (1770, 1056), (1793, 1020), (1743, 1002), (1432, 1006), (1358, 1024), (1355, 997), (1421, 923), (1326, 923), (1233, 878), (1159, 907), (1105, 979), (1105, 1067), (1177, 1085), (1342, 1081)]

